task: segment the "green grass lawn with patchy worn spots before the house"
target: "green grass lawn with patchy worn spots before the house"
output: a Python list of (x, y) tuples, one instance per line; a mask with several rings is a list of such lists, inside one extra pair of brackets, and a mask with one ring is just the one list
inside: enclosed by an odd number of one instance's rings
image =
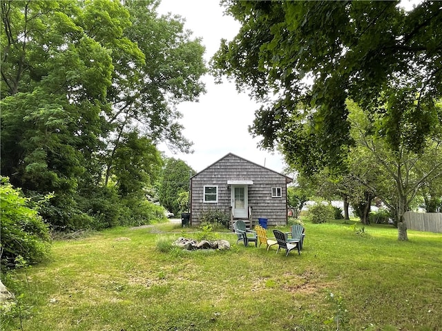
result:
[(289, 257), (230, 232), (218, 234), (229, 251), (178, 250), (169, 243), (198, 229), (171, 224), (55, 241), (51, 261), (26, 270), (30, 289), (23, 270), (4, 279), (22, 295), (1, 330), (442, 329), (442, 234), (305, 228)]

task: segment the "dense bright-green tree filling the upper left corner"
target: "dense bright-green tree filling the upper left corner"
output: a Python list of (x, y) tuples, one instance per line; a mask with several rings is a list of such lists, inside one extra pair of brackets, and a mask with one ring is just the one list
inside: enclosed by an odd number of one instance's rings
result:
[(112, 58), (78, 14), (74, 1), (1, 2), (1, 170), (24, 190), (73, 192), (101, 147)]

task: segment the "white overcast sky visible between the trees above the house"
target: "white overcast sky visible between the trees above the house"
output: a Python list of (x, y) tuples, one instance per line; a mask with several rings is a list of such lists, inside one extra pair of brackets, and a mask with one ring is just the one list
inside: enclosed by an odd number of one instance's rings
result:
[[(184, 28), (200, 37), (206, 47), (204, 59), (218, 50), (222, 38), (228, 41), (237, 34), (240, 25), (232, 17), (224, 16), (218, 0), (162, 0), (158, 12), (178, 14), (186, 19)], [(265, 152), (257, 148), (259, 139), (252, 139), (247, 131), (260, 105), (251, 101), (247, 93), (239, 94), (233, 83), (215, 85), (213, 77), (206, 75), (206, 94), (198, 103), (178, 105), (183, 118), (184, 137), (193, 141), (193, 154), (172, 154), (164, 145), (159, 149), (168, 157), (185, 161), (200, 172), (229, 152), (249, 161), (282, 172), (284, 162), (279, 152)]]

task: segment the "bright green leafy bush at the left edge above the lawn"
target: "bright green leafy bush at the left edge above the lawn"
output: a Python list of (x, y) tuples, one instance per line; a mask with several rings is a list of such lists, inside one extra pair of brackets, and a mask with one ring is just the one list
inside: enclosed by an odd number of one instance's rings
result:
[(12, 268), (19, 257), (30, 264), (47, 257), (50, 233), (37, 212), (39, 205), (30, 205), (30, 199), (23, 197), (21, 190), (13, 188), (6, 177), (1, 177), (0, 208), (1, 265)]

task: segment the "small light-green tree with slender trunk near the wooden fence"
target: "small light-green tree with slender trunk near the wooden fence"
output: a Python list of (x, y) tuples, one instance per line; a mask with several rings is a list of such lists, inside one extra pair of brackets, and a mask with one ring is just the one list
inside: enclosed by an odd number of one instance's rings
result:
[(365, 185), (368, 194), (390, 208), (398, 224), (398, 239), (407, 240), (403, 214), (410, 210), (420, 190), (442, 179), (442, 104), (436, 104), (438, 112), (434, 114), (433, 122), (439, 125), (434, 126), (432, 138), (426, 139), (419, 152), (407, 148), (407, 109), (396, 127), (397, 150), (379, 133), (379, 121), (350, 101), (349, 109), (351, 134), (356, 142), (348, 158), (351, 176)]

